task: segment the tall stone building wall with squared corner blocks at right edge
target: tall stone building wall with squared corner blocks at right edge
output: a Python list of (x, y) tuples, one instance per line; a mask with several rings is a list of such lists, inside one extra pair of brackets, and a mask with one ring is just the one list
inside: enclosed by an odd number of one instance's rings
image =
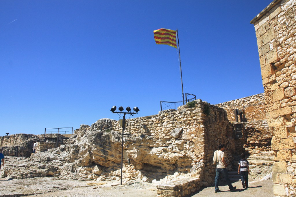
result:
[(296, 0), (275, 0), (255, 26), (271, 147), (274, 195), (296, 195)]

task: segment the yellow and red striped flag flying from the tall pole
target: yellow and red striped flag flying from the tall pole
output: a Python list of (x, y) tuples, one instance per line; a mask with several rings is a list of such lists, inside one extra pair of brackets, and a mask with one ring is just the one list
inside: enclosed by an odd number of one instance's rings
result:
[(154, 40), (159, 45), (170, 45), (177, 48), (176, 31), (168, 29), (154, 30)]

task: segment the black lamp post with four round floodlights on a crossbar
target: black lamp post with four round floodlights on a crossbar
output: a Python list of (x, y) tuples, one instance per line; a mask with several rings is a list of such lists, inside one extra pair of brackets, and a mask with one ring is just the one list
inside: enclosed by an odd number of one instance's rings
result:
[(132, 134), (124, 134), (124, 133), (123, 133), (124, 130), (125, 130), (125, 126), (126, 126), (126, 123), (125, 123), (125, 121), (126, 121), (126, 114), (131, 114), (131, 115), (133, 115), (133, 114), (137, 114), (138, 111), (140, 111), (140, 110), (139, 110), (139, 108), (134, 107), (134, 108), (133, 108), (133, 111), (134, 111), (134, 112), (130, 112), (130, 111), (131, 111), (131, 108), (130, 108), (130, 107), (127, 107), (127, 108), (126, 108), (126, 112), (122, 112), (122, 111), (123, 111), (123, 107), (122, 107), (122, 106), (120, 106), (120, 107), (118, 108), (118, 110), (119, 110), (120, 112), (117, 112), (117, 111), (116, 111), (116, 106), (113, 106), (113, 107), (111, 108), (110, 111), (111, 111), (112, 113), (121, 113), (121, 114), (123, 114), (123, 118), (122, 118), (122, 144), (121, 144), (121, 172), (120, 172), (120, 185), (122, 185), (123, 136), (124, 136), (124, 135), (126, 135), (126, 136), (136, 136), (136, 135), (132, 135)]

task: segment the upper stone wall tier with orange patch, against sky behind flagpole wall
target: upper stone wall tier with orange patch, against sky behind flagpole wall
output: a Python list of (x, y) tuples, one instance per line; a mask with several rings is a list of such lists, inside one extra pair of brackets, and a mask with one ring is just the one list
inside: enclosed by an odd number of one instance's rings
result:
[(219, 103), (216, 106), (226, 110), (229, 121), (235, 121), (234, 109), (242, 110), (243, 106), (245, 111), (245, 118), (247, 119), (247, 121), (266, 119), (264, 93)]

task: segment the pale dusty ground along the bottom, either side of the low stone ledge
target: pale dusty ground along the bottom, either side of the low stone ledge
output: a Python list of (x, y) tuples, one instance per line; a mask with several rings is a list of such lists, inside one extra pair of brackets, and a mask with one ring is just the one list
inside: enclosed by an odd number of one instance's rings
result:
[[(42, 177), (32, 179), (0, 179), (0, 197), (37, 196), (37, 197), (156, 197), (157, 183), (133, 183), (120, 185), (119, 181), (78, 181), (59, 180)], [(272, 180), (250, 182), (249, 189), (242, 189), (241, 182), (233, 183), (237, 189), (230, 192), (228, 186), (219, 187), (221, 192), (214, 193), (214, 187), (201, 188), (190, 195), (197, 196), (273, 196)]]

